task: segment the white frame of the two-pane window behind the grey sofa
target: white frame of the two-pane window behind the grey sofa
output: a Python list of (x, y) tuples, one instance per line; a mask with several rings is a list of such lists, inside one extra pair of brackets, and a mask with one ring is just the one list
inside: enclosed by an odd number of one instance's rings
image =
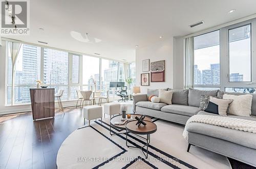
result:
[[(229, 30), (242, 26), (251, 26), (251, 82), (229, 82)], [(193, 87), (215, 88), (225, 91), (225, 88), (256, 88), (256, 18), (242, 21), (227, 27), (210, 30), (201, 34), (196, 34), (193, 37), (200, 36), (206, 33), (220, 30), (220, 85), (194, 85), (193, 71)], [(193, 46), (194, 47), (194, 46)], [(194, 58), (193, 58), (194, 66)], [(194, 70), (194, 69), (193, 69)]]

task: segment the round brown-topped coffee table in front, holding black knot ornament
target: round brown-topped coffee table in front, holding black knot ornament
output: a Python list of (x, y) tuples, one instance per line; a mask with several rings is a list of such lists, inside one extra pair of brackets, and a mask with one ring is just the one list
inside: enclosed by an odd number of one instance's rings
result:
[[(137, 148), (137, 149), (141, 149), (142, 153), (145, 155), (145, 157), (147, 158), (147, 154), (148, 154), (148, 144), (150, 144), (150, 135), (152, 133), (155, 133), (157, 131), (157, 125), (154, 124), (153, 122), (151, 121), (147, 121), (143, 120), (144, 123), (146, 123), (146, 125), (140, 125), (139, 127), (136, 126), (136, 123), (138, 121), (137, 120), (134, 120), (134, 121), (131, 121), (131, 122), (128, 122), (126, 123), (125, 125), (125, 129), (126, 129), (126, 146), (127, 147), (132, 147), (132, 148)], [(142, 147), (135, 147), (135, 146), (129, 146), (127, 144), (127, 134), (128, 133), (133, 133), (133, 134), (136, 134), (136, 135), (146, 135), (146, 138), (142, 137), (142, 136), (139, 136), (143, 139), (146, 140), (146, 144), (144, 144), (144, 146)], [(144, 149), (144, 147), (146, 146), (146, 150)], [(146, 151), (146, 154), (144, 153), (144, 151)]]

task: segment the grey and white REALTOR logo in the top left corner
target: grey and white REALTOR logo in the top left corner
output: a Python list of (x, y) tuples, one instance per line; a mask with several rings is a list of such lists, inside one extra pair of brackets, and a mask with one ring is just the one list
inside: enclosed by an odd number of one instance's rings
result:
[(1, 35), (29, 35), (29, 0), (1, 1)]

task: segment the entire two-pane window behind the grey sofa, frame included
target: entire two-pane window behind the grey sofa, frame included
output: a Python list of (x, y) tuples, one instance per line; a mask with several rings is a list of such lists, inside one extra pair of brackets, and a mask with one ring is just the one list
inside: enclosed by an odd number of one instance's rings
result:
[(256, 18), (194, 36), (193, 87), (255, 93), (255, 26)]

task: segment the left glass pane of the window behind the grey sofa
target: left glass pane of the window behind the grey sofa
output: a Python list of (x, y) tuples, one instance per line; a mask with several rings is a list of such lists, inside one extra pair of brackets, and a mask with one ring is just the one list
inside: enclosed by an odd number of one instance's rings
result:
[(220, 31), (194, 37), (194, 85), (220, 85)]

